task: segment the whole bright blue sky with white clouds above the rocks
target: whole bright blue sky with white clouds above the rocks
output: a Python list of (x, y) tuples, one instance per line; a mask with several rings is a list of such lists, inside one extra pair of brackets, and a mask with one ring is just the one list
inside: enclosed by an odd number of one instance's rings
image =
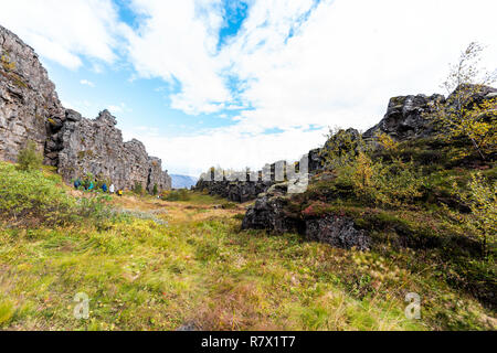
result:
[[(297, 160), (390, 97), (442, 93), (469, 42), (497, 65), (495, 0), (0, 0), (62, 104), (117, 117), (170, 173)], [(493, 66), (494, 65), (494, 66)]]

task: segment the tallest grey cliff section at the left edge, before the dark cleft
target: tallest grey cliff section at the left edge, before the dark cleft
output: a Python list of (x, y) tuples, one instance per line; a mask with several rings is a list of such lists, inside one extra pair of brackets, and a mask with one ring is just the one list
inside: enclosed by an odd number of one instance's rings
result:
[(0, 26), (0, 159), (15, 161), (28, 140), (43, 151), (65, 110), (33, 49)]

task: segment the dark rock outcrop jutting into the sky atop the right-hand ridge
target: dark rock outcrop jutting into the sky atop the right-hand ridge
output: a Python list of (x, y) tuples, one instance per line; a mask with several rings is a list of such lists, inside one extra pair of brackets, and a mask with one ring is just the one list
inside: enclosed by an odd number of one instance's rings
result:
[(374, 127), (366, 131), (364, 139), (374, 138), (377, 133), (387, 133), (398, 141), (429, 137), (433, 133), (433, 126), (425, 114), (436, 101), (444, 101), (442, 95), (400, 96), (390, 99), (384, 118)]

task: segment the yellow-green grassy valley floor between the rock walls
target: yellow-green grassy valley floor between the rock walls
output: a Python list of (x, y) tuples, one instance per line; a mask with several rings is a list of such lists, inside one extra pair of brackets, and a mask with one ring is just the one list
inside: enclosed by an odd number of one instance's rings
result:
[[(412, 250), (384, 257), (240, 232), (243, 207), (214, 208), (222, 201), (202, 194), (112, 203), (128, 216), (56, 228), (0, 224), (0, 328), (495, 329), (495, 313)], [(410, 291), (422, 296), (422, 320), (404, 315)], [(73, 317), (77, 292), (91, 298), (88, 320)]]

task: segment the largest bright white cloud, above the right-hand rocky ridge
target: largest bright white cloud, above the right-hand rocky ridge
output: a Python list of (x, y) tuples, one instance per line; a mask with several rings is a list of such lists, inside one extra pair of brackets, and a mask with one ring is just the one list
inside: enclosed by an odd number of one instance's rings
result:
[[(307, 21), (296, 20), (311, 8), (310, 0), (255, 2), (221, 54), (248, 82), (242, 97), (255, 109), (243, 114), (246, 129), (368, 128), (391, 96), (440, 90), (465, 45), (491, 45), (497, 35), (490, 0), (322, 1)], [(497, 62), (495, 44), (487, 54)]]

